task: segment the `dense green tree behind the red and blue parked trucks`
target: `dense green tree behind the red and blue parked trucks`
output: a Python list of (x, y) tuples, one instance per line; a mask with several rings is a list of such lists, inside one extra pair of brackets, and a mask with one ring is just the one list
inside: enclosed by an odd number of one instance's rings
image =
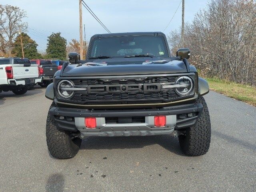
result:
[(47, 41), (46, 58), (66, 60), (67, 40), (60, 36), (60, 32), (52, 33)]

